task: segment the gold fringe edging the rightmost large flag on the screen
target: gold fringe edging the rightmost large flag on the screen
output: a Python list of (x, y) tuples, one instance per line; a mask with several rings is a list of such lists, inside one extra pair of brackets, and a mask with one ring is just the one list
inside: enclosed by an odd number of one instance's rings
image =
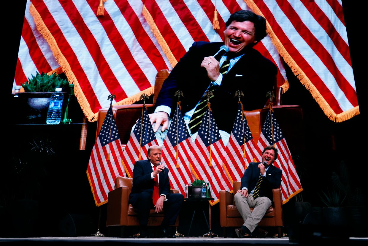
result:
[[(258, 6), (254, 3), (254, 0), (243, 0), (250, 9), (258, 15), (264, 15), (262, 14), (261, 10), (258, 8)], [(293, 58), (291, 58), (290, 54), (286, 51), (284, 45), (281, 43), (280, 39), (276, 36), (275, 32), (272, 30), (271, 25), (269, 22), (266, 22), (267, 27), (267, 33), (271, 38), (271, 41), (273, 45), (275, 45), (277, 51), (282, 56), (286, 64), (291, 68), (294, 75), (297, 76), (297, 78), (300, 80), (302, 85), (309, 90), (314, 100), (318, 103), (319, 107), (321, 107), (322, 111), (325, 113), (325, 115), (332, 121), (335, 122), (343, 122), (347, 119), (350, 119), (354, 117), (355, 115), (360, 114), (359, 106), (355, 106), (354, 108), (351, 108), (350, 110), (344, 111), (340, 114), (336, 114), (335, 111), (330, 107), (330, 105), (326, 102), (325, 98), (322, 97), (321, 93), (316, 89), (314, 84), (309, 80), (308, 76), (305, 75), (303, 70), (297, 65), (297, 63), (294, 61)], [(289, 82), (285, 82), (282, 86), (283, 93), (286, 92), (287, 89), (289, 89)]]

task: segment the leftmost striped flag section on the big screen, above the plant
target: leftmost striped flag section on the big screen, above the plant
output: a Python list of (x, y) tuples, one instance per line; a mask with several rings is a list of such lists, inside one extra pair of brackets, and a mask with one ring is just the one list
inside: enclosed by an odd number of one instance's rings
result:
[(36, 28), (29, 13), (30, 5), (31, 1), (27, 0), (13, 86), (26, 82), (36, 72), (47, 73), (60, 67), (49, 45)]

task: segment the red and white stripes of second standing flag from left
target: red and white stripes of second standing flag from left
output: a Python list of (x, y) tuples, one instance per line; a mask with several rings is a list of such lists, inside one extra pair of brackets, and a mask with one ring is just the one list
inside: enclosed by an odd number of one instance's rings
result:
[[(135, 134), (133, 133), (130, 136), (130, 139), (125, 146), (123, 155), (121, 157), (121, 162), (123, 162), (124, 169), (126, 173), (128, 174), (128, 177), (133, 177), (133, 168), (134, 163), (138, 160), (147, 160), (147, 150), (149, 146), (152, 145), (159, 145), (156, 138), (155, 140), (147, 143), (146, 145), (142, 146), (142, 148), (139, 148), (139, 140), (135, 137)], [(140, 149), (140, 152), (139, 152)], [(140, 157), (139, 157), (140, 153)]]

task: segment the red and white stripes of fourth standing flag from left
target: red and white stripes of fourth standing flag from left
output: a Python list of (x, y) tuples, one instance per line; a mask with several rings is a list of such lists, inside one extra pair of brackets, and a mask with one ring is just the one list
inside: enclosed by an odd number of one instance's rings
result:
[[(211, 167), (209, 166), (211, 149)], [(211, 205), (216, 204), (220, 199), (220, 191), (232, 191), (233, 183), (226, 174), (222, 165), (222, 157), (225, 146), (222, 139), (206, 147), (201, 137), (197, 135), (191, 150), (191, 168), (197, 179), (209, 182), (211, 197), (215, 200), (210, 201)]]

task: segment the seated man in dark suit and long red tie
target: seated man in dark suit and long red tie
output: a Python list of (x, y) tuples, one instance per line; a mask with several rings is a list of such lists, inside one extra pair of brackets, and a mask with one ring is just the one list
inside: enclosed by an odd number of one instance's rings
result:
[(147, 236), (149, 211), (155, 208), (157, 213), (164, 211), (161, 224), (163, 236), (172, 237), (169, 225), (174, 225), (184, 201), (182, 194), (170, 194), (169, 169), (161, 162), (161, 147), (153, 145), (147, 150), (148, 160), (135, 162), (133, 168), (133, 186), (129, 203), (138, 209), (141, 232), (139, 237)]

